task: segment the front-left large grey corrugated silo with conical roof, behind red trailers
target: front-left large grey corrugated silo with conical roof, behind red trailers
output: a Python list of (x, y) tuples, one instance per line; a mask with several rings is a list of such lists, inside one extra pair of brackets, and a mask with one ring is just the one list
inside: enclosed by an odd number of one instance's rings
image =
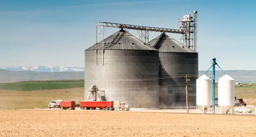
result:
[(85, 100), (90, 86), (104, 90), (107, 100), (133, 108), (159, 106), (159, 52), (121, 29), (85, 50)]

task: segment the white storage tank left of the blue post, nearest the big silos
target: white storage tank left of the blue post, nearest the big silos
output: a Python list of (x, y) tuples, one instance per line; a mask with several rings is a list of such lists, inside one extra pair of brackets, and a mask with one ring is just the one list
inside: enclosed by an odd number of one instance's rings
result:
[(203, 106), (203, 108), (210, 107), (212, 105), (212, 80), (208, 76), (202, 75), (197, 79), (196, 83), (197, 106)]

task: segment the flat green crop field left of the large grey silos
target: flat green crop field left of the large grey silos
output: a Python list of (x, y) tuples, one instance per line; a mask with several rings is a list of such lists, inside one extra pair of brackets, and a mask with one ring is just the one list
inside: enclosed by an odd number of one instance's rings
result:
[(1, 90), (36, 91), (50, 89), (72, 89), (84, 87), (84, 80), (20, 81), (0, 83)]

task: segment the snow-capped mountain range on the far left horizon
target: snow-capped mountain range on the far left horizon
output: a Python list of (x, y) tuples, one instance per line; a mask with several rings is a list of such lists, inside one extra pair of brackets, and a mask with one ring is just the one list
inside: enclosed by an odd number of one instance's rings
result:
[(84, 71), (84, 66), (17, 66), (17, 67), (0, 67), (0, 69), (9, 71), (38, 71), (38, 72), (74, 72), (74, 71)]

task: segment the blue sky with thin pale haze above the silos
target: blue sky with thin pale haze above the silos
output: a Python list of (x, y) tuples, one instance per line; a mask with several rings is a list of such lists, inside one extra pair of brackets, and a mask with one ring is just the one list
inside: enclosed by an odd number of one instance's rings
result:
[(97, 22), (177, 28), (197, 10), (199, 70), (213, 57), (225, 70), (256, 70), (255, 7), (253, 0), (1, 0), (0, 66), (84, 66)]

